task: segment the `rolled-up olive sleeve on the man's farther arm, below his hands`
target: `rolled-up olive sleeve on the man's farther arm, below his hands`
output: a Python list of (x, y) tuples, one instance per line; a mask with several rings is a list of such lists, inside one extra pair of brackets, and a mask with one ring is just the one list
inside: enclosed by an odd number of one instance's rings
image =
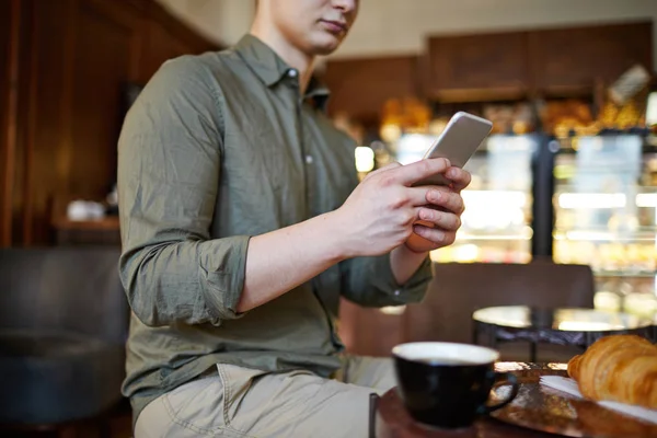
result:
[(419, 302), (433, 278), (431, 261), (425, 258), (413, 276), (397, 284), (390, 254), (356, 257), (341, 263), (342, 295), (364, 307), (402, 306)]

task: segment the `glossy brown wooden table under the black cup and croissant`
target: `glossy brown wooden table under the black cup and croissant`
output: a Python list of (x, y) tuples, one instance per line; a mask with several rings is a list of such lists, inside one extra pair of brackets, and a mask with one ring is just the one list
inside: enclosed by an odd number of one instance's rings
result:
[(632, 419), (589, 400), (564, 399), (561, 392), (540, 387), (541, 376), (567, 376), (565, 364), (497, 362), (495, 369), (515, 373), (520, 392), (510, 405), (480, 417), (472, 427), (450, 431), (423, 426), (408, 415), (393, 389), (370, 403), (370, 438), (657, 437), (656, 424)]

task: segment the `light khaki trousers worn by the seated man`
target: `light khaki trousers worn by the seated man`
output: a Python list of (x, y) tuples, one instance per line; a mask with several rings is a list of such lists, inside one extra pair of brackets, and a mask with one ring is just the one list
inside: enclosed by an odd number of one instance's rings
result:
[(155, 399), (135, 438), (367, 438), (369, 397), (395, 385), (391, 359), (350, 356), (337, 379), (217, 365), (218, 373)]

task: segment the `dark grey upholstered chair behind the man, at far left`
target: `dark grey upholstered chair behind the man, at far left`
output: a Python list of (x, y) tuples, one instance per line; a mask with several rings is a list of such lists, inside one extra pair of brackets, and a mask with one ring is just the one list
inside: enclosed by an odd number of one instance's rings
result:
[(54, 427), (122, 401), (129, 310), (116, 247), (0, 250), (0, 424)]

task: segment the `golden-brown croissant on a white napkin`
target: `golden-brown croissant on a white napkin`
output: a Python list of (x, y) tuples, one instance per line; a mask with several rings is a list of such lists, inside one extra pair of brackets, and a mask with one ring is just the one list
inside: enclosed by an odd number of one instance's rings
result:
[(657, 346), (641, 336), (601, 337), (568, 361), (568, 376), (587, 399), (657, 410)]

